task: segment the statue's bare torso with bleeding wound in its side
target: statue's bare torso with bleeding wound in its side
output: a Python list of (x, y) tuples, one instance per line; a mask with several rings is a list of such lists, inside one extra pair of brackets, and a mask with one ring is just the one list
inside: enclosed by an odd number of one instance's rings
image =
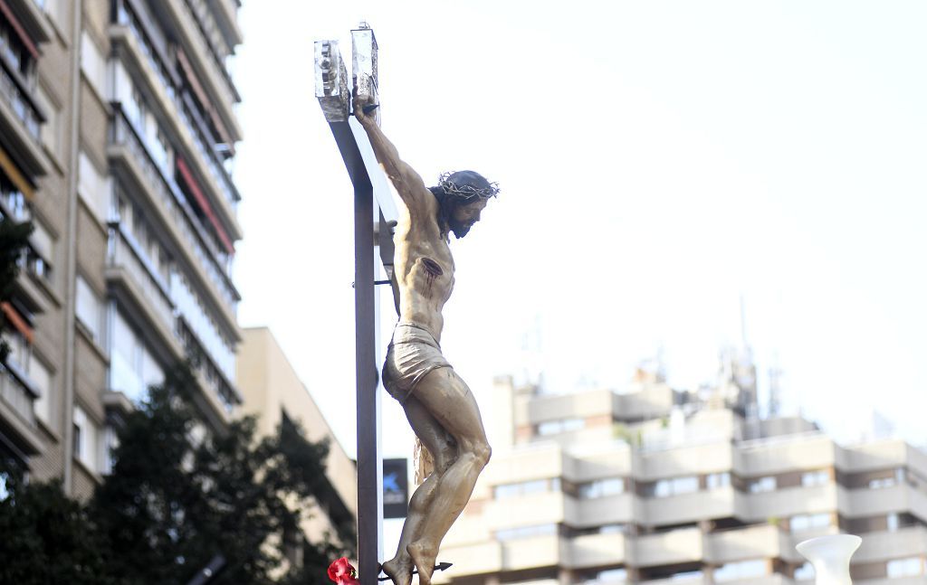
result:
[(416, 218), (403, 210), (393, 241), (395, 274), (400, 287), (400, 322), (414, 323), (440, 341), (441, 310), (454, 287), (451, 247), (434, 217)]

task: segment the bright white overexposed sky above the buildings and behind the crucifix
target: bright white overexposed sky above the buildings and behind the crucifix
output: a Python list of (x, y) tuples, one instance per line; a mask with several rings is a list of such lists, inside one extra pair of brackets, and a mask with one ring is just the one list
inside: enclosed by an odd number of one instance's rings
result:
[[(240, 320), (271, 327), (349, 454), (351, 186), (312, 42), (349, 59), (362, 19), (400, 155), (429, 184), (472, 168), (502, 186), (451, 243), (442, 340), (482, 404), (497, 374), (620, 389), (661, 351), (674, 387), (713, 380), (743, 295), (761, 398), (778, 365), (786, 409), (838, 439), (876, 408), (927, 442), (927, 4), (246, 0), (239, 17)], [(386, 455), (410, 454), (384, 405)]]

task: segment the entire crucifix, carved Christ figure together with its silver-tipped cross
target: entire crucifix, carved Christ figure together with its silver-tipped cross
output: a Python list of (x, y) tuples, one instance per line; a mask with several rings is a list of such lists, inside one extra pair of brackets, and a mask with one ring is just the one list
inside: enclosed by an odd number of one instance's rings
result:
[[(347, 71), (332, 41), (316, 44), (316, 94), (354, 184), (361, 583), (375, 583), (382, 569), (394, 585), (410, 585), (416, 573), (419, 585), (430, 585), (434, 570), (447, 566), (436, 566), (440, 543), (464, 510), (490, 454), (473, 393), (439, 343), (442, 309), (454, 284), (451, 233), (464, 237), (499, 189), (472, 170), (445, 173), (438, 185), (425, 186), (380, 130), (373, 31), (362, 26), (351, 36), (353, 103)], [(393, 205), (390, 185), (401, 199), (399, 208)], [(388, 277), (379, 282), (374, 276), (375, 243)], [(382, 565), (373, 557), (379, 556), (382, 514), (377, 283), (392, 284), (399, 316), (382, 362), (383, 385), (402, 405), (430, 463), (409, 504), (397, 552)]]

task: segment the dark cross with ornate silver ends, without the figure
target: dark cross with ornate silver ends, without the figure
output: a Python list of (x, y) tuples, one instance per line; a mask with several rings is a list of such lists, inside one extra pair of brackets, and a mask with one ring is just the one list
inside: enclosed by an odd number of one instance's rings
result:
[[(374, 31), (361, 23), (351, 31), (352, 82), (338, 52), (337, 41), (315, 42), (315, 96), (335, 136), (338, 150), (354, 185), (354, 332), (357, 356), (357, 539), (361, 585), (375, 585), (379, 574), (383, 526), (383, 470), (380, 453), (379, 336), (375, 254), (392, 275), (393, 240), (390, 226), (398, 211), (383, 169), (357, 118), (351, 114), (351, 90), (359, 97), (377, 94), (377, 46)], [(379, 110), (375, 110), (380, 123)]]

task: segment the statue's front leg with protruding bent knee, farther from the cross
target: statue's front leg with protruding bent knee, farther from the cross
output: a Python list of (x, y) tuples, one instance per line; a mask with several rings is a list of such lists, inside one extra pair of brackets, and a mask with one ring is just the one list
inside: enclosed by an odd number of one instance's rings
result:
[(490, 449), (476, 400), (451, 367), (428, 373), (416, 387), (415, 398), (457, 442), (457, 457), (438, 477), (419, 535), (406, 547), (418, 569), (419, 585), (429, 585), (438, 546), (470, 501)]

